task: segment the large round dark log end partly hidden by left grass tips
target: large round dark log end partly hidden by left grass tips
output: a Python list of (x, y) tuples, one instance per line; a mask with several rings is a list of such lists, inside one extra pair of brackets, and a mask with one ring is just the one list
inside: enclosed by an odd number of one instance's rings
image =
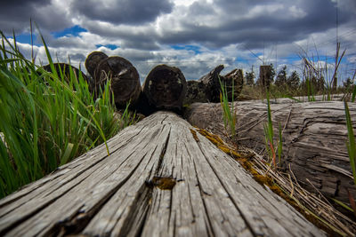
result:
[(140, 97), (140, 76), (127, 59), (115, 56), (102, 59), (95, 68), (94, 83), (96, 93), (111, 80), (111, 90), (117, 107), (125, 107), (127, 102), (134, 105)]

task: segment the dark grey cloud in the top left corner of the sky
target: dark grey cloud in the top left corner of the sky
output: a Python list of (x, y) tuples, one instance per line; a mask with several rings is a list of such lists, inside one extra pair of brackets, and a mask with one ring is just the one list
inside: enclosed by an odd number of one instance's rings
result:
[(61, 30), (70, 26), (67, 12), (54, 7), (50, 0), (3, 1), (0, 8), (0, 29), (20, 34), (29, 28), (29, 20), (36, 21), (42, 30)]

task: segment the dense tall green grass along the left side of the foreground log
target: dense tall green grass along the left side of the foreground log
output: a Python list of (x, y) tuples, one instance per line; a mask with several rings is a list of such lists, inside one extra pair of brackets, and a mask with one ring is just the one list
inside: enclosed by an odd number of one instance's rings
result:
[(44, 40), (52, 72), (25, 59), (16, 41), (0, 33), (0, 197), (4, 197), (93, 146), (106, 144), (134, 116), (127, 108), (121, 118), (117, 116), (110, 83), (93, 99), (88, 83), (82, 75), (76, 78), (72, 68), (69, 78), (58, 75)]

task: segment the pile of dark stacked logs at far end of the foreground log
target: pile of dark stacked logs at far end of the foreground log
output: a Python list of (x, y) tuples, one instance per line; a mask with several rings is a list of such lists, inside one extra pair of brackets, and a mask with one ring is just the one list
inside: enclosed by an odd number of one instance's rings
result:
[[(108, 80), (117, 107), (125, 107), (127, 102), (143, 115), (158, 110), (182, 112), (182, 106), (194, 102), (219, 102), (221, 86), (228, 92), (229, 99), (238, 98), (243, 85), (241, 69), (234, 69), (227, 75), (220, 75), (223, 65), (215, 67), (198, 81), (185, 80), (178, 67), (158, 65), (147, 75), (142, 88), (136, 68), (127, 59), (108, 57), (101, 51), (93, 51), (85, 60), (86, 70), (93, 77), (93, 93)], [(233, 93), (232, 93), (233, 91)]]

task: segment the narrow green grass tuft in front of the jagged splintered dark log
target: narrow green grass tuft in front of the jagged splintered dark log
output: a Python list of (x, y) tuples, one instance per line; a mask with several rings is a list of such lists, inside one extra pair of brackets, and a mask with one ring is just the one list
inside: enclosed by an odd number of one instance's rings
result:
[[(220, 80), (220, 103), (223, 107), (223, 123), (225, 126), (225, 130), (228, 130), (231, 133), (231, 137), (234, 138), (236, 136), (236, 110), (234, 108), (234, 83), (232, 81), (232, 88), (231, 88), (231, 103), (229, 102), (228, 91), (226, 85)], [(231, 104), (231, 105), (230, 105)]]

